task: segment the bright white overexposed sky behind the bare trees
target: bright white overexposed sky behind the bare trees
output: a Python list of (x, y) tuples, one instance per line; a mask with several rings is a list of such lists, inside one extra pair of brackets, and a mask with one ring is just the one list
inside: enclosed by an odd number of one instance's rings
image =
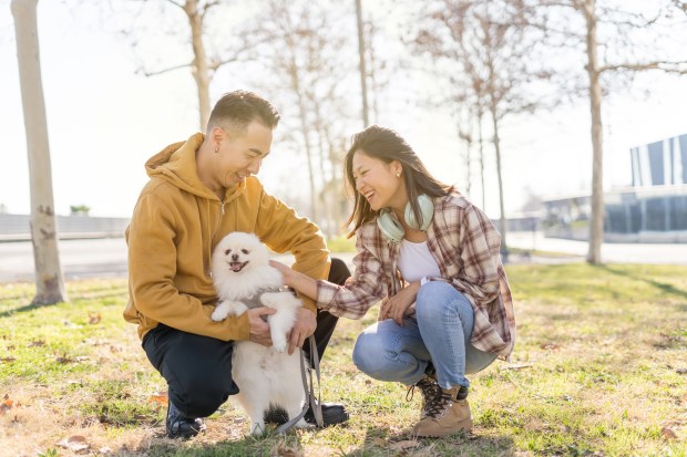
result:
[[(365, 4), (365, 2), (363, 2)], [(134, 53), (100, 18), (84, 21), (62, 1), (39, 2), (39, 39), (55, 212), (86, 205), (92, 216), (130, 217), (146, 181), (143, 164), (197, 129), (196, 92), (187, 70), (136, 74)], [(675, 31), (685, 33), (687, 31)], [(165, 52), (161, 46), (158, 52)], [(30, 212), (29, 166), (9, 0), (0, 0), (0, 205)], [(214, 100), (234, 86), (214, 81)], [(427, 81), (417, 81), (427, 84)], [(647, 74), (605, 100), (606, 189), (630, 184), (629, 148), (687, 133), (687, 76)], [(531, 194), (556, 198), (591, 193), (592, 146), (587, 102), (505, 123), (502, 132), (506, 215)], [(448, 114), (413, 108), (384, 114), (379, 124), (401, 132), (439, 179), (461, 187), (460, 144)], [(351, 134), (355, 132), (351, 132)], [(258, 174), (268, 191), (290, 201), (307, 186), (293, 160), (273, 154)], [(498, 181), (489, 159), (484, 209), (499, 217)], [(305, 175), (304, 175), (305, 176)], [(482, 196), (470, 196), (481, 206)]]

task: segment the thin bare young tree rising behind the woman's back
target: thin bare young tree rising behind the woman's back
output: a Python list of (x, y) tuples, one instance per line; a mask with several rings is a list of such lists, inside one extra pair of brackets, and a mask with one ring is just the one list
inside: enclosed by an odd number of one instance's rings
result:
[[(500, 232), (502, 252), (507, 255), (505, 204), (503, 190), (501, 127), (505, 117), (533, 112), (540, 101), (530, 86), (545, 76), (540, 64), (533, 64), (539, 37), (522, 27), (526, 11), (509, 0), (438, 0), (423, 4), (413, 41), (417, 53), (432, 56), (442, 73), (461, 74), (468, 89), (465, 103), (474, 103), (471, 112), (489, 116), (499, 181)], [(447, 96), (451, 101), (451, 95)], [(455, 98), (455, 97), (453, 97)], [(481, 115), (475, 125), (481, 127)], [(479, 136), (479, 135), (475, 135)]]

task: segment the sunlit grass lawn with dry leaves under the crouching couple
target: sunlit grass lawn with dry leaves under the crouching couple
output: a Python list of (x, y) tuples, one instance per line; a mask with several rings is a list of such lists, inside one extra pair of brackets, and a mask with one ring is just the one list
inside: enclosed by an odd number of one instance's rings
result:
[(28, 305), (0, 284), (0, 455), (687, 456), (687, 268), (510, 266), (519, 340), (510, 363), (471, 377), (470, 436), (413, 439), (419, 395), (357, 372), (341, 320), (322, 398), (342, 427), (246, 436), (230, 403), (207, 433), (164, 436), (165, 383), (126, 324), (123, 280), (68, 284), (71, 303)]

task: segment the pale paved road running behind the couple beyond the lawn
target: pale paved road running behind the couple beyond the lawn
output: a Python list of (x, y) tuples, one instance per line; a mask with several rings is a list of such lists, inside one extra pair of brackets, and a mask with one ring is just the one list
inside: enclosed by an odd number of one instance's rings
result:
[[(554, 238), (541, 233), (511, 232), (509, 246), (521, 249), (567, 253), (560, 259), (523, 259), (511, 256), (511, 260), (561, 262), (584, 261), (587, 243)], [(123, 238), (89, 240), (61, 240), (60, 259), (66, 279), (103, 278), (126, 276), (126, 245)], [(350, 263), (351, 253), (337, 255)], [(687, 245), (604, 245), (602, 258), (612, 263), (668, 263), (687, 264)], [(290, 256), (280, 257), (290, 261)], [(33, 250), (30, 242), (0, 242), (0, 283), (33, 281)]]

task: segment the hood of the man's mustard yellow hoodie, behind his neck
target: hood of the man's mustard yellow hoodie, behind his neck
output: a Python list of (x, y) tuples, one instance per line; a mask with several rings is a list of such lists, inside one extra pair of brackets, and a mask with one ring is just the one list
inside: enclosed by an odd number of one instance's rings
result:
[[(218, 200), (213, 193), (198, 177), (196, 167), (196, 150), (205, 141), (205, 135), (196, 133), (188, 137), (186, 142), (178, 142), (148, 158), (145, 163), (145, 172), (151, 178), (162, 178), (182, 190), (197, 197)], [(236, 198), (245, 188), (245, 183), (227, 189), (225, 202)]]

